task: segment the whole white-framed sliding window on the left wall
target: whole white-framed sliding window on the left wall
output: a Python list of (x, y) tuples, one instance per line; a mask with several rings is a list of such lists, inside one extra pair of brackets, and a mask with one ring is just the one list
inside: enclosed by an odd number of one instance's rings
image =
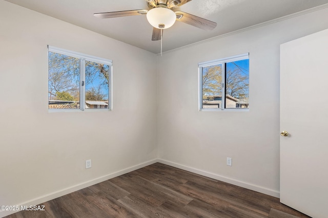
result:
[(48, 46), (49, 109), (111, 109), (112, 61)]

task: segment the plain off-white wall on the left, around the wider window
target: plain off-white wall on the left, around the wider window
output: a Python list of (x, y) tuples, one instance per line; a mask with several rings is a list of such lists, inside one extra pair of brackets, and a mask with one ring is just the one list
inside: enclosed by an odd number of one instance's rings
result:
[[(113, 111), (48, 112), (48, 44), (113, 60)], [(156, 82), (156, 55), (0, 1), (0, 205), (42, 203), (154, 161)]]

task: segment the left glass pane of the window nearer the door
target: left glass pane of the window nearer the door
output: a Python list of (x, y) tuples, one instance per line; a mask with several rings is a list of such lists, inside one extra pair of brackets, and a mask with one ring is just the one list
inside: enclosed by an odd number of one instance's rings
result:
[(202, 108), (221, 108), (222, 65), (202, 68)]

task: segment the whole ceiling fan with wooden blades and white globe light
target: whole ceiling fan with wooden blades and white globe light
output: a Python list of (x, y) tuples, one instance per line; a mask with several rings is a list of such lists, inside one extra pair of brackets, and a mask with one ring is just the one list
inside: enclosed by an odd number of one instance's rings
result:
[(146, 0), (149, 10), (114, 11), (93, 15), (99, 18), (112, 18), (146, 14), (147, 20), (153, 26), (153, 41), (160, 40), (162, 30), (172, 27), (176, 20), (203, 30), (213, 30), (216, 22), (177, 10), (177, 7), (190, 1), (192, 0)]

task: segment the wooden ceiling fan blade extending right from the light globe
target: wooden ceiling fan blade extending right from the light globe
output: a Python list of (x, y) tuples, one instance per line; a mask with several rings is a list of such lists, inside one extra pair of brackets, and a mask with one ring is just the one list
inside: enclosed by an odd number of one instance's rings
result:
[(201, 17), (197, 17), (192, 14), (188, 14), (186, 12), (175, 11), (175, 14), (177, 15), (176, 20), (179, 20), (184, 23), (188, 23), (189, 25), (198, 27), (203, 30), (213, 30), (216, 27), (216, 22)]

